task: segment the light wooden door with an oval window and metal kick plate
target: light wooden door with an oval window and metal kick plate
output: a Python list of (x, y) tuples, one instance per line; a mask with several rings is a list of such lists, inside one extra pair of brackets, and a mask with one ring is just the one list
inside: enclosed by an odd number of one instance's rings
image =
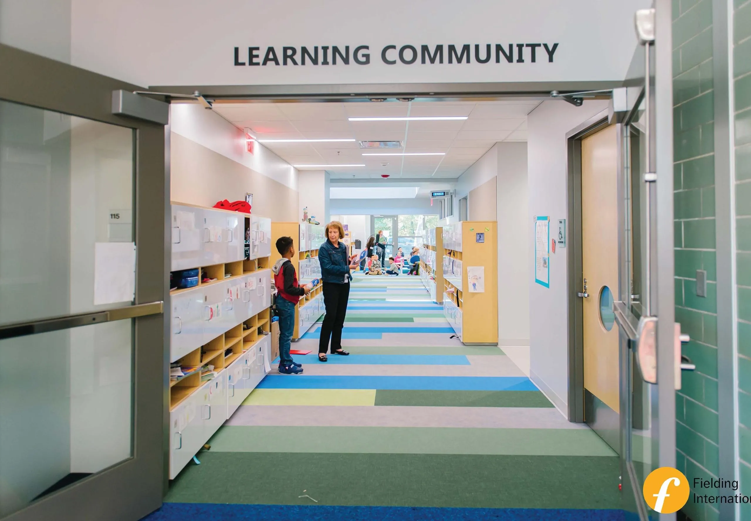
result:
[[(619, 412), (618, 326), (612, 299), (618, 291), (617, 127), (581, 141), (584, 388)], [(608, 295), (609, 292), (609, 295)]]

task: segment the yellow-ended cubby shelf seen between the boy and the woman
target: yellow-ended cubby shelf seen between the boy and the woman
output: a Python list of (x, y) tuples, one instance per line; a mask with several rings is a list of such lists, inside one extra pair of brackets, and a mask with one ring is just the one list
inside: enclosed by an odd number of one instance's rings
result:
[[(297, 303), (292, 340), (299, 340), (315, 322), (318, 322), (318, 319), (325, 312), (323, 286), (320, 282), (321, 265), (318, 263), (318, 249), (326, 238), (324, 226), (309, 223), (272, 223), (271, 240), (273, 244), (276, 244), (277, 239), (285, 236), (294, 239), (296, 255), (290, 260), (294, 265), (295, 273), (297, 273), (297, 283), (303, 286), (312, 283), (315, 279), (319, 281), (318, 285), (308, 295), (301, 297)], [(281, 258), (282, 256), (274, 248), (271, 262), (276, 262)]]

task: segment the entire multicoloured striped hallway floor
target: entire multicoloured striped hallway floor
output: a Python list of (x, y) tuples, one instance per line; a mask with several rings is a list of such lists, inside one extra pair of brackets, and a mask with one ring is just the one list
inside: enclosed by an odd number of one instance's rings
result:
[(418, 277), (357, 275), (352, 354), (316, 361), (314, 326), (305, 373), (267, 376), (147, 519), (621, 519), (608, 445), (452, 333)]

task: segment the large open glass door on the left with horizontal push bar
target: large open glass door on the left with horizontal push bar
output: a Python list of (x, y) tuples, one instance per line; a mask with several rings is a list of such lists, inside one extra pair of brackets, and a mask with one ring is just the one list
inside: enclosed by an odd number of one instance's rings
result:
[(0, 520), (140, 519), (165, 476), (164, 126), (101, 103), (122, 82), (2, 45), (0, 70)]

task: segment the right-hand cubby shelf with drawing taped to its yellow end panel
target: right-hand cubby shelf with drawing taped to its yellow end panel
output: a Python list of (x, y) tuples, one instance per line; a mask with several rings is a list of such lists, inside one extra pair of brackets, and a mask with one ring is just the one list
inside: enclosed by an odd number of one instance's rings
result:
[[(442, 230), (444, 315), (468, 345), (498, 343), (496, 230), (495, 221), (463, 221)], [(484, 268), (484, 292), (470, 292), (467, 269), (479, 266)]]

